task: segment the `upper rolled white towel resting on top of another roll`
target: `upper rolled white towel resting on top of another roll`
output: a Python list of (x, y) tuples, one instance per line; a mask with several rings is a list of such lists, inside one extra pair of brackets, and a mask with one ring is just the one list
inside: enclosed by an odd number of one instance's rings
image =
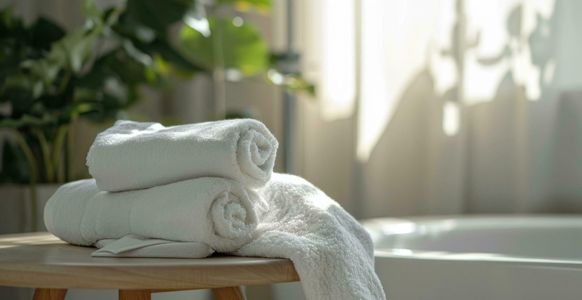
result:
[(97, 135), (87, 155), (102, 191), (151, 188), (199, 177), (223, 177), (261, 187), (271, 177), (279, 146), (253, 119), (164, 127), (118, 120)]

